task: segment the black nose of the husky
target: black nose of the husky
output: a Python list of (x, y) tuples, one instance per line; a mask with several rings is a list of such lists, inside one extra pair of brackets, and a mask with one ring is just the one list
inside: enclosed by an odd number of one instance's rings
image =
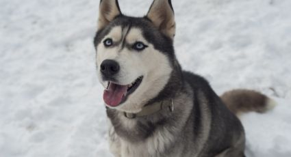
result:
[(106, 59), (101, 63), (100, 70), (104, 76), (113, 76), (117, 72), (119, 72), (119, 64), (112, 60)]

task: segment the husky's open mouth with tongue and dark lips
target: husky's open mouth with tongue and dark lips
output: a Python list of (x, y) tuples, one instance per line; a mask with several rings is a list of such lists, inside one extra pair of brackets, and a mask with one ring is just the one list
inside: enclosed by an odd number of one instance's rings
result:
[(103, 100), (108, 106), (118, 106), (125, 102), (127, 97), (134, 93), (140, 83), (142, 83), (143, 76), (136, 78), (136, 81), (129, 85), (118, 85), (112, 81), (108, 82), (107, 89), (104, 90)]

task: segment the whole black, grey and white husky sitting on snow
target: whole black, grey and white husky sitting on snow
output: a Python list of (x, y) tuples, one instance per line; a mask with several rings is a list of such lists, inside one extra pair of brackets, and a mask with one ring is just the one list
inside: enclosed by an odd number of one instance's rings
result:
[(247, 111), (274, 102), (256, 91), (217, 96), (205, 78), (181, 70), (174, 53), (170, 0), (154, 0), (144, 17), (125, 16), (101, 0), (94, 38), (99, 81), (116, 157), (242, 157)]

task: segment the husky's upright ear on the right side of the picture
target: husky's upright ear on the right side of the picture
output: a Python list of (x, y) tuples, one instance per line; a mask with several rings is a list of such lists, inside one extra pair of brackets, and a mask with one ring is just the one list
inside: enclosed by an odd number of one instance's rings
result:
[(154, 0), (147, 13), (155, 27), (170, 38), (175, 36), (175, 16), (170, 0)]

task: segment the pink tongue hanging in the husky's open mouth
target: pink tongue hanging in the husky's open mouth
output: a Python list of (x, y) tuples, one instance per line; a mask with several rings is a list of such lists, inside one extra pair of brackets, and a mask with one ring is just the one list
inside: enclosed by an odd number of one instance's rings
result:
[(118, 106), (125, 96), (127, 91), (127, 85), (116, 85), (110, 83), (108, 89), (104, 90), (103, 100), (109, 106)]

